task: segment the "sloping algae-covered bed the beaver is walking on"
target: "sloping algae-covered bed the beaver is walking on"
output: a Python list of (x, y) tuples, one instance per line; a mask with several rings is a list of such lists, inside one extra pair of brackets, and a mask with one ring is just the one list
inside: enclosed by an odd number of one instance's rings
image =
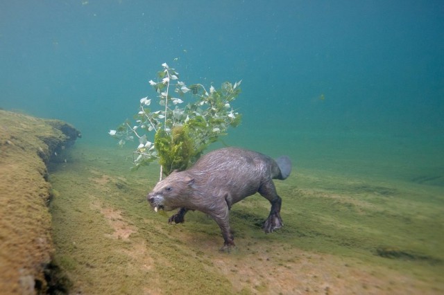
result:
[[(157, 181), (157, 167), (130, 172), (125, 154), (76, 147), (71, 162), (51, 170), (60, 194), (51, 204), (56, 260), (73, 293), (444, 290), (439, 190), (296, 170), (276, 181), (284, 227), (263, 233), (269, 204), (249, 197), (232, 208), (237, 248), (227, 255), (219, 253), (219, 227), (206, 215), (190, 212), (185, 224), (171, 225), (153, 213), (146, 193)], [(382, 257), (381, 249), (418, 259)], [(362, 276), (368, 283), (359, 284)]]

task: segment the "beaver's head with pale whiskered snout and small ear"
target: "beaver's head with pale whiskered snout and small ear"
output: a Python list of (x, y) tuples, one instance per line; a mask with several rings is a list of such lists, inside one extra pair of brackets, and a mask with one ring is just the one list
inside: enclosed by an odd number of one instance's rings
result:
[(194, 178), (186, 172), (172, 172), (167, 178), (157, 182), (146, 199), (154, 211), (170, 211), (187, 206), (187, 196), (191, 193)]

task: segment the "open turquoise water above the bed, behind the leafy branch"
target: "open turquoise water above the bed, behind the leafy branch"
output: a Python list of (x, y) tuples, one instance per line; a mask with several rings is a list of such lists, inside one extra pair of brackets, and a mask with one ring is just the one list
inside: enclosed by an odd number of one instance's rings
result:
[(443, 31), (442, 1), (1, 1), (0, 107), (116, 145), (167, 62), (243, 79), (225, 143), (444, 187)]

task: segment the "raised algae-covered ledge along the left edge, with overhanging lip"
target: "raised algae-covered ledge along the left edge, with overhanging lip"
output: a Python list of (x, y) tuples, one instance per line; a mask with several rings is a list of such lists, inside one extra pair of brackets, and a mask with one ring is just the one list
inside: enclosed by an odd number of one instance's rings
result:
[[(65, 161), (80, 136), (59, 120), (0, 110), (0, 292), (46, 292), (51, 262), (51, 186), (46, 163)], [(46, 278), (45, 278), (46, 275)]]

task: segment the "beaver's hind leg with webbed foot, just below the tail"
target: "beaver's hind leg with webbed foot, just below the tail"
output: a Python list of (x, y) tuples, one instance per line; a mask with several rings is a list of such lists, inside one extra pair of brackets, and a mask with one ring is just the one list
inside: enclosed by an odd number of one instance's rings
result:
[(282, 204), (282, 199), (278, 196), (276, 192), (275, 184), (270, 179), (269, 181), (264, 182), (262, 186), (259, 187), (257, 191), (262, 197), (268, 199), (271, 203), (270, 215), (264, 222), (264, 226), (262, 229), (266, 233), (273, 233), (276, 229), (280, 229), (284, 226), (282, 222), (282, 218), (280, 217), (280, 206)]

